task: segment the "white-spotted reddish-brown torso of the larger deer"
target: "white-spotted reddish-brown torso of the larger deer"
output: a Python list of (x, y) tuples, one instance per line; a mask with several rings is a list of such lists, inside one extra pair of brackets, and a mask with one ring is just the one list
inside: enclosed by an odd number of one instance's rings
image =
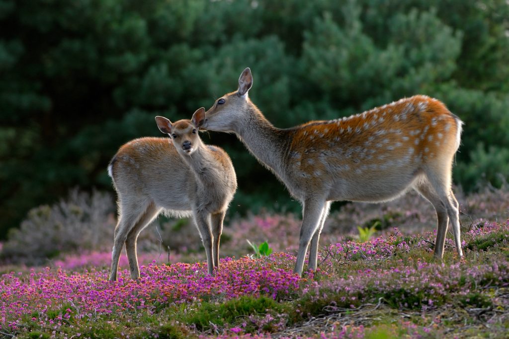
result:
[(450, 167), (460, 132), (440, 101), (415, 96), (293, 129), (287, 171), (301, 193), (319, 187), (330, 200), (386, 200), (426, 166)]

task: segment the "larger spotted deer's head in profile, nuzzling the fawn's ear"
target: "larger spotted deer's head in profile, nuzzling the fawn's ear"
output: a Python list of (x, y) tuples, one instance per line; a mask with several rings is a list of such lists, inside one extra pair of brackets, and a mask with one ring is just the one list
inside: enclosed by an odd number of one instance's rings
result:
[(247, 91), (251, 88), (253, 77), (251, 70), (246, 68), (239, 78), (239, 88), (216, 100), (205, 113), (204, 128), (217, 132), (235, 132), (249, 104)]

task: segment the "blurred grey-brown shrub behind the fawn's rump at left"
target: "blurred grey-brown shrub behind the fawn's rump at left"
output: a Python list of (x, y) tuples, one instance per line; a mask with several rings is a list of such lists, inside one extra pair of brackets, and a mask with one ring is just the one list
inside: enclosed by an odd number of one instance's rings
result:
[(19, 229), (11, 229), (1, 257), (41, 263), (61, 253), (107, 249), (115, 229), (111, 195), (72, 190), (66, 200), (30, 210)]

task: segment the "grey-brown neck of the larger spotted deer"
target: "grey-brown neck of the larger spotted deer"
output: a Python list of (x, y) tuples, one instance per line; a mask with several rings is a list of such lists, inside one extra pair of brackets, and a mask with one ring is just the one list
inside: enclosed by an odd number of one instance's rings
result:
[(284, 180), (289, 133), (275, 128), (256, 106), (249, 105), (247, 111), (246, 123), (235, 131), (237, 136), (254, 157)]

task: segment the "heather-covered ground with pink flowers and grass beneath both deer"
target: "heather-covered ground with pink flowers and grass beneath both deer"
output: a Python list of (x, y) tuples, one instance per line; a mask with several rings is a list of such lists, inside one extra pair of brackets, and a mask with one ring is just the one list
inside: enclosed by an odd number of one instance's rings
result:
[[(222, 251), (235, 257), (214, 276), (201, 251), (171, 254), (173, 263), (142, 254), (137, 282), (127, 270), (108, 282), (107, 253), (0, 266), (0, 338), (506, 338), (507, 195), (460, 199), (461, 259), (451, 239), (443, 260), (433, 257), (433, 210), (409, 196), (331, 215), (319, 269), (302, 278), (292, 273), (298, 217), (270, 214), (225, 229)], [(246, 256), (246, 239), (268, 240), (275, 253)]]

